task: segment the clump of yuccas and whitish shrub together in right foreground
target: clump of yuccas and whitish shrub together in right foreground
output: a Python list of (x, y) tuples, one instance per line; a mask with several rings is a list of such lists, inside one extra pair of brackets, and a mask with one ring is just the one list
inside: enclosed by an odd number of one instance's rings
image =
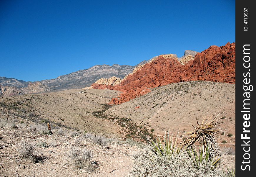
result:
[[(165, 134), (164, 143), (158, 136), (157, 141), (150, 140), (150, 147), (143, 153), (135, 156), (135, 164), (131, 176), (182, 176), (182, 177), (231, 177), (235, 176), (235, 171), (227, 167), (227, 171), (217, 168), (220, 164), (219, 149), (216, 148), (217, 142), (215, 137), (221, 130), (216, 130), (218, 125), (219, 114), (214, 114), (205, 124), (202, 120), (195, 130), (187, 133), (187, 138), (183, 139), (177, 145), (177, 137), (175, 142), (173, 137), (168, 138)], [(195, 148), (195, 143), (203, 139), (199, 154)], [(216, 143), (216, 144), (215, 144)], [(205, 148), (205, 145), (206, 148)], [(210, 149), (210, 147), (212, 149)], [(181, 151), (185, 148), (185, 152)], [(182, 168), (180, 168), (182, 167)], [(163, 170), (164, 169), (164, 170)]]

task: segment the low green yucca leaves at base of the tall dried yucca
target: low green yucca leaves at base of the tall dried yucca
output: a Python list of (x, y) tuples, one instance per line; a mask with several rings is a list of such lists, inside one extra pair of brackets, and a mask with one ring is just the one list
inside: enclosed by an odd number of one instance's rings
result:
[(194, 146), (191, 146), (191, 150), (189, 148), (185, 148), (189, 158), (193, 160), (194, 165), (199, 169), (200, 164), (204, 163), (206, 161), (210, 161), (212, 163), (212, 168), (216, 168), (220, 164), (220, 158), (217, 158), (217, 155), (215, 158), (210, 159), (210, 149), (209, 146), (207, 146), (207, 149), (205, 150), (201, 145), (199, 146), (199, 155), (197, 154), (197, 151)]

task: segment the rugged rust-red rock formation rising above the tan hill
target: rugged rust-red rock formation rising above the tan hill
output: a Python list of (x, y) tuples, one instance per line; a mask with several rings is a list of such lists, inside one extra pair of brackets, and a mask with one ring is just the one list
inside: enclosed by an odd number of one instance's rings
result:
[(211, 46), (182, 65), (173, 56), (160, 55), (129, 75), (119, 85), (94, 83), (94, 89), (113, 89), (123, 93), (110, 104), (121, 104), (150, 92), (150, 88), (184, 81), (214, 81), (235, 83), (235, 43)]

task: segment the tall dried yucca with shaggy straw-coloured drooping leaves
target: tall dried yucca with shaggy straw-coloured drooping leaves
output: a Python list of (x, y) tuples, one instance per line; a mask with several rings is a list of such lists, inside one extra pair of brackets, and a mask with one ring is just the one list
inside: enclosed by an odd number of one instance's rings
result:
[(204, 119), (201, 120), (201, 123), (198, 123), (197, 120), (197, 126), (193, 126), (191, 124), (195, 130), (187, 133), (188, 137), (183, 141), (183, 146), (189, 148), (202, 139), (202, 149), (204, 152), (207, 151), (207, 147), (209, 148), (209, 159), (212, 160), (216, 156), (217, 159), (219, 159), (220, 148), (217, 144), (215, 136), (220, 137), (218, 134), (222, 133), (222, 130), (218, 127), (220, 124), (219, 120), (222, 117), (220, 116), (220, 113), (217, 112), (206, 120), (207, 114)]

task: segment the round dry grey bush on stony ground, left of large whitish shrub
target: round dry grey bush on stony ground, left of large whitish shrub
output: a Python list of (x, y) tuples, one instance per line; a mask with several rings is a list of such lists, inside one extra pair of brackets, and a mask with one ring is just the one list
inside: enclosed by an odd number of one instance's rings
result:
[(89, 150), (71, 147), (69, 151), (69, 158), (72, 165), (78, 169), (86, 169), (91, 171), (93, 169), (92, 152)]

